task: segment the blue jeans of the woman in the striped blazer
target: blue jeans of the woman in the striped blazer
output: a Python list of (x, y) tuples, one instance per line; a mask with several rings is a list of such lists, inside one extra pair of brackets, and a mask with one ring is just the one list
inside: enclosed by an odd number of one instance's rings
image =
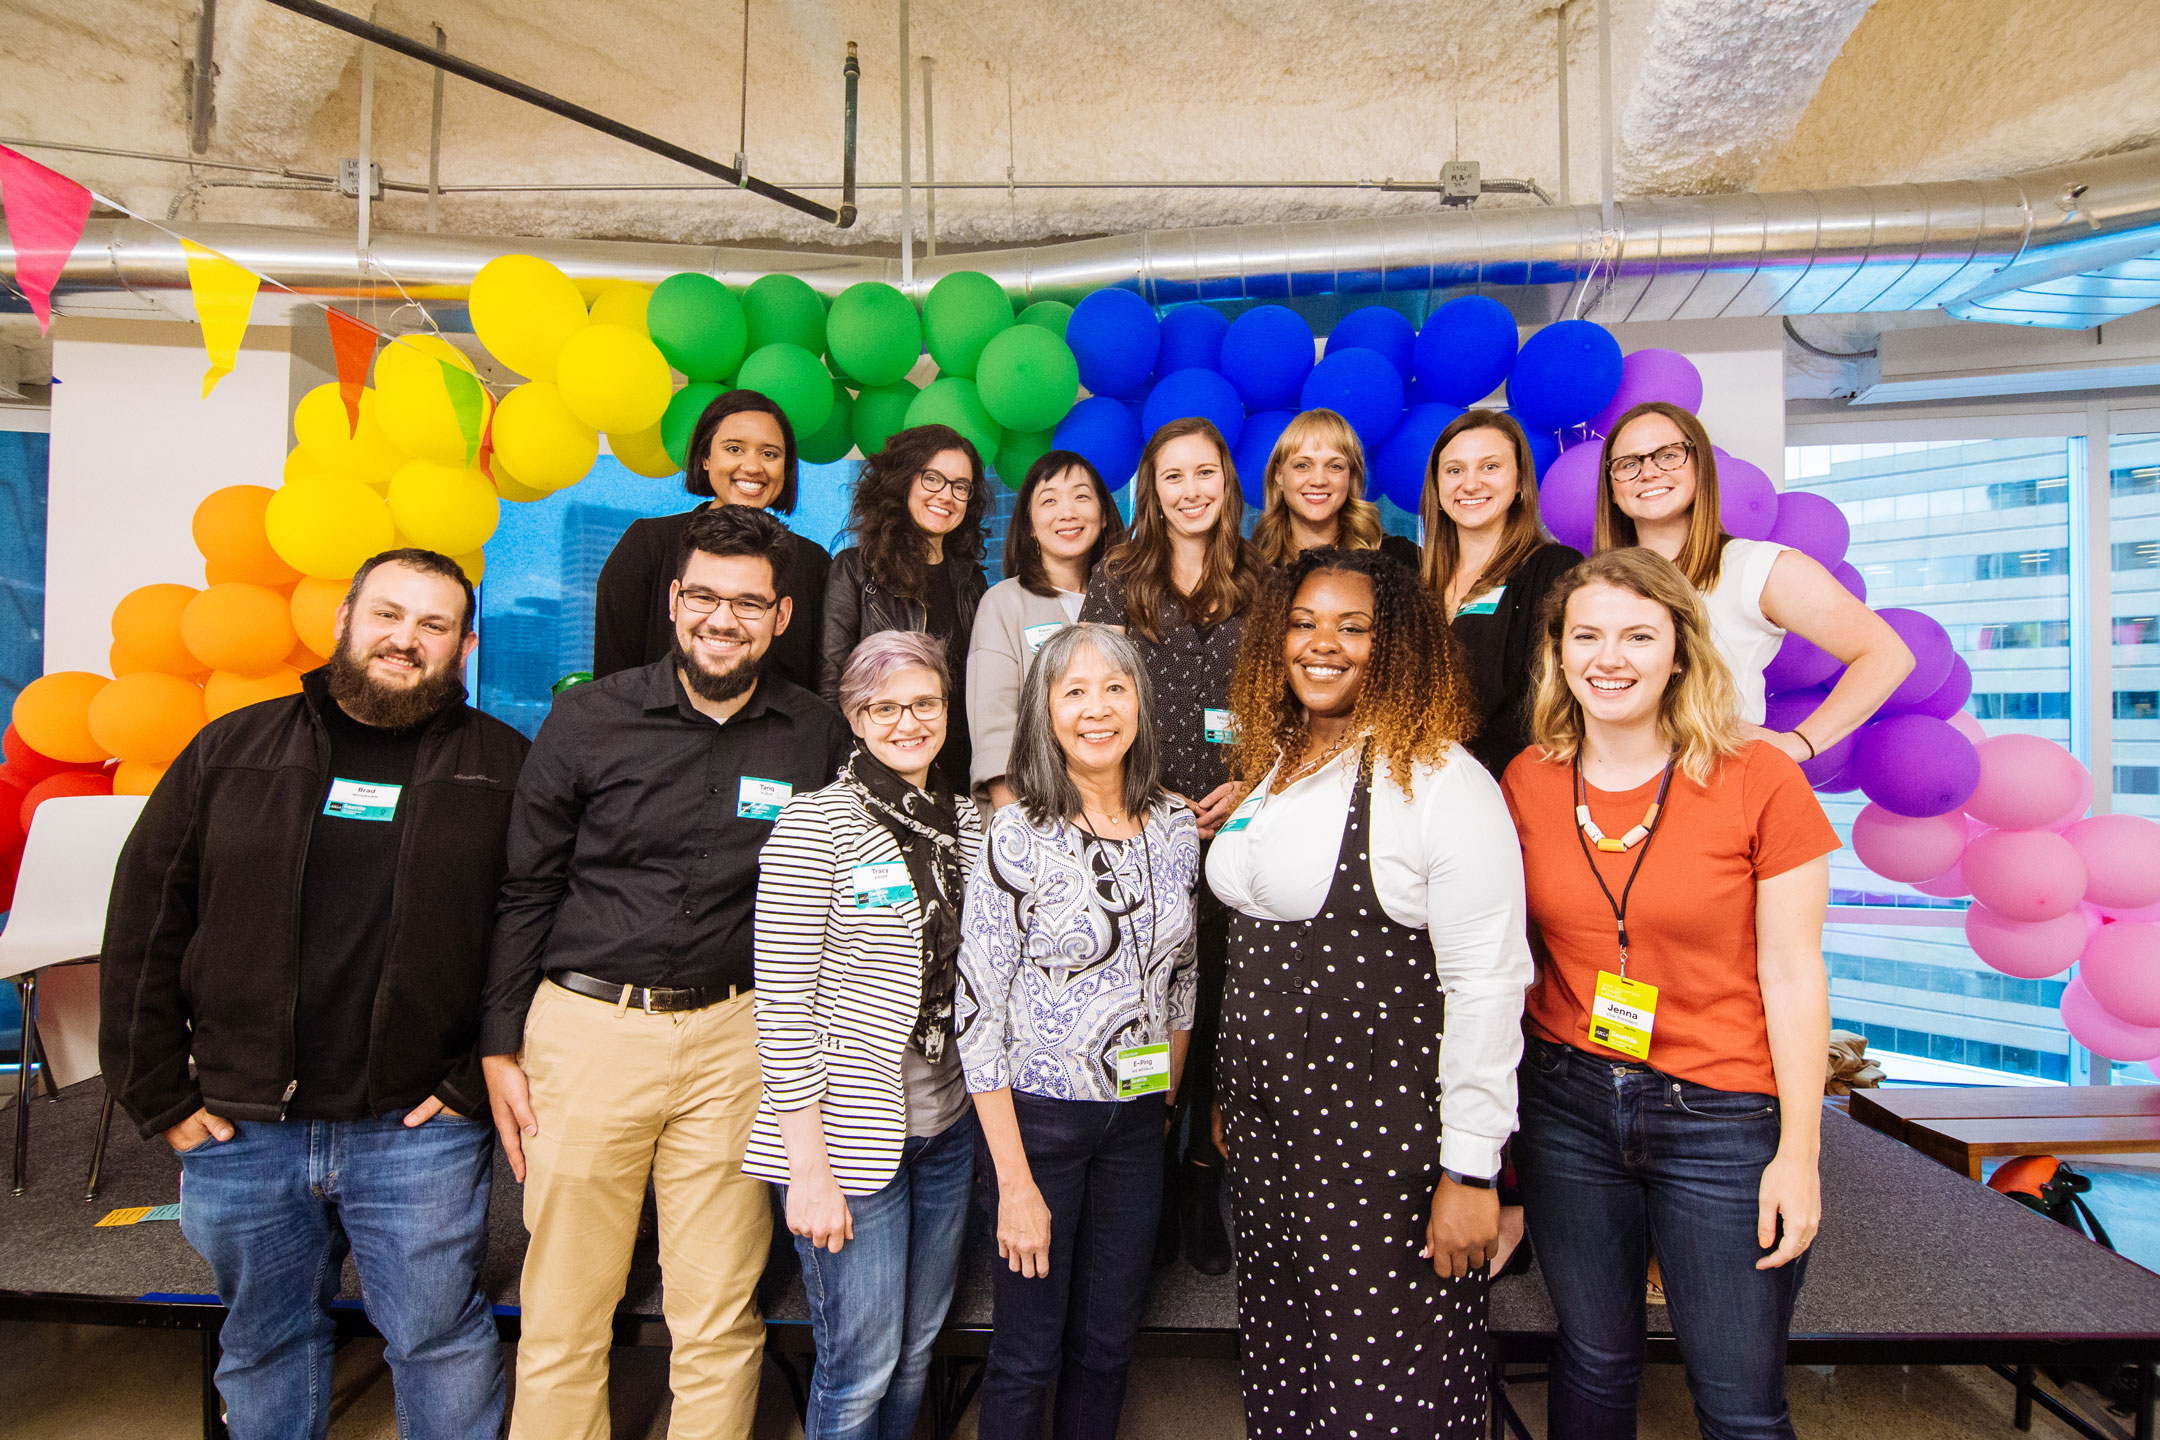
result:
[[(912, 1136), (875, 1194), (849, 1196), (855, 1239), (834, 1254), (801, 1235), (804, 1298), (816, 1371), (804, 1440), (907, 1440), (944, 1328), (968, 1235), (974, 1110), (937, 1136)], [(786, 1203), (788, 1187), (780, 1185)]]

